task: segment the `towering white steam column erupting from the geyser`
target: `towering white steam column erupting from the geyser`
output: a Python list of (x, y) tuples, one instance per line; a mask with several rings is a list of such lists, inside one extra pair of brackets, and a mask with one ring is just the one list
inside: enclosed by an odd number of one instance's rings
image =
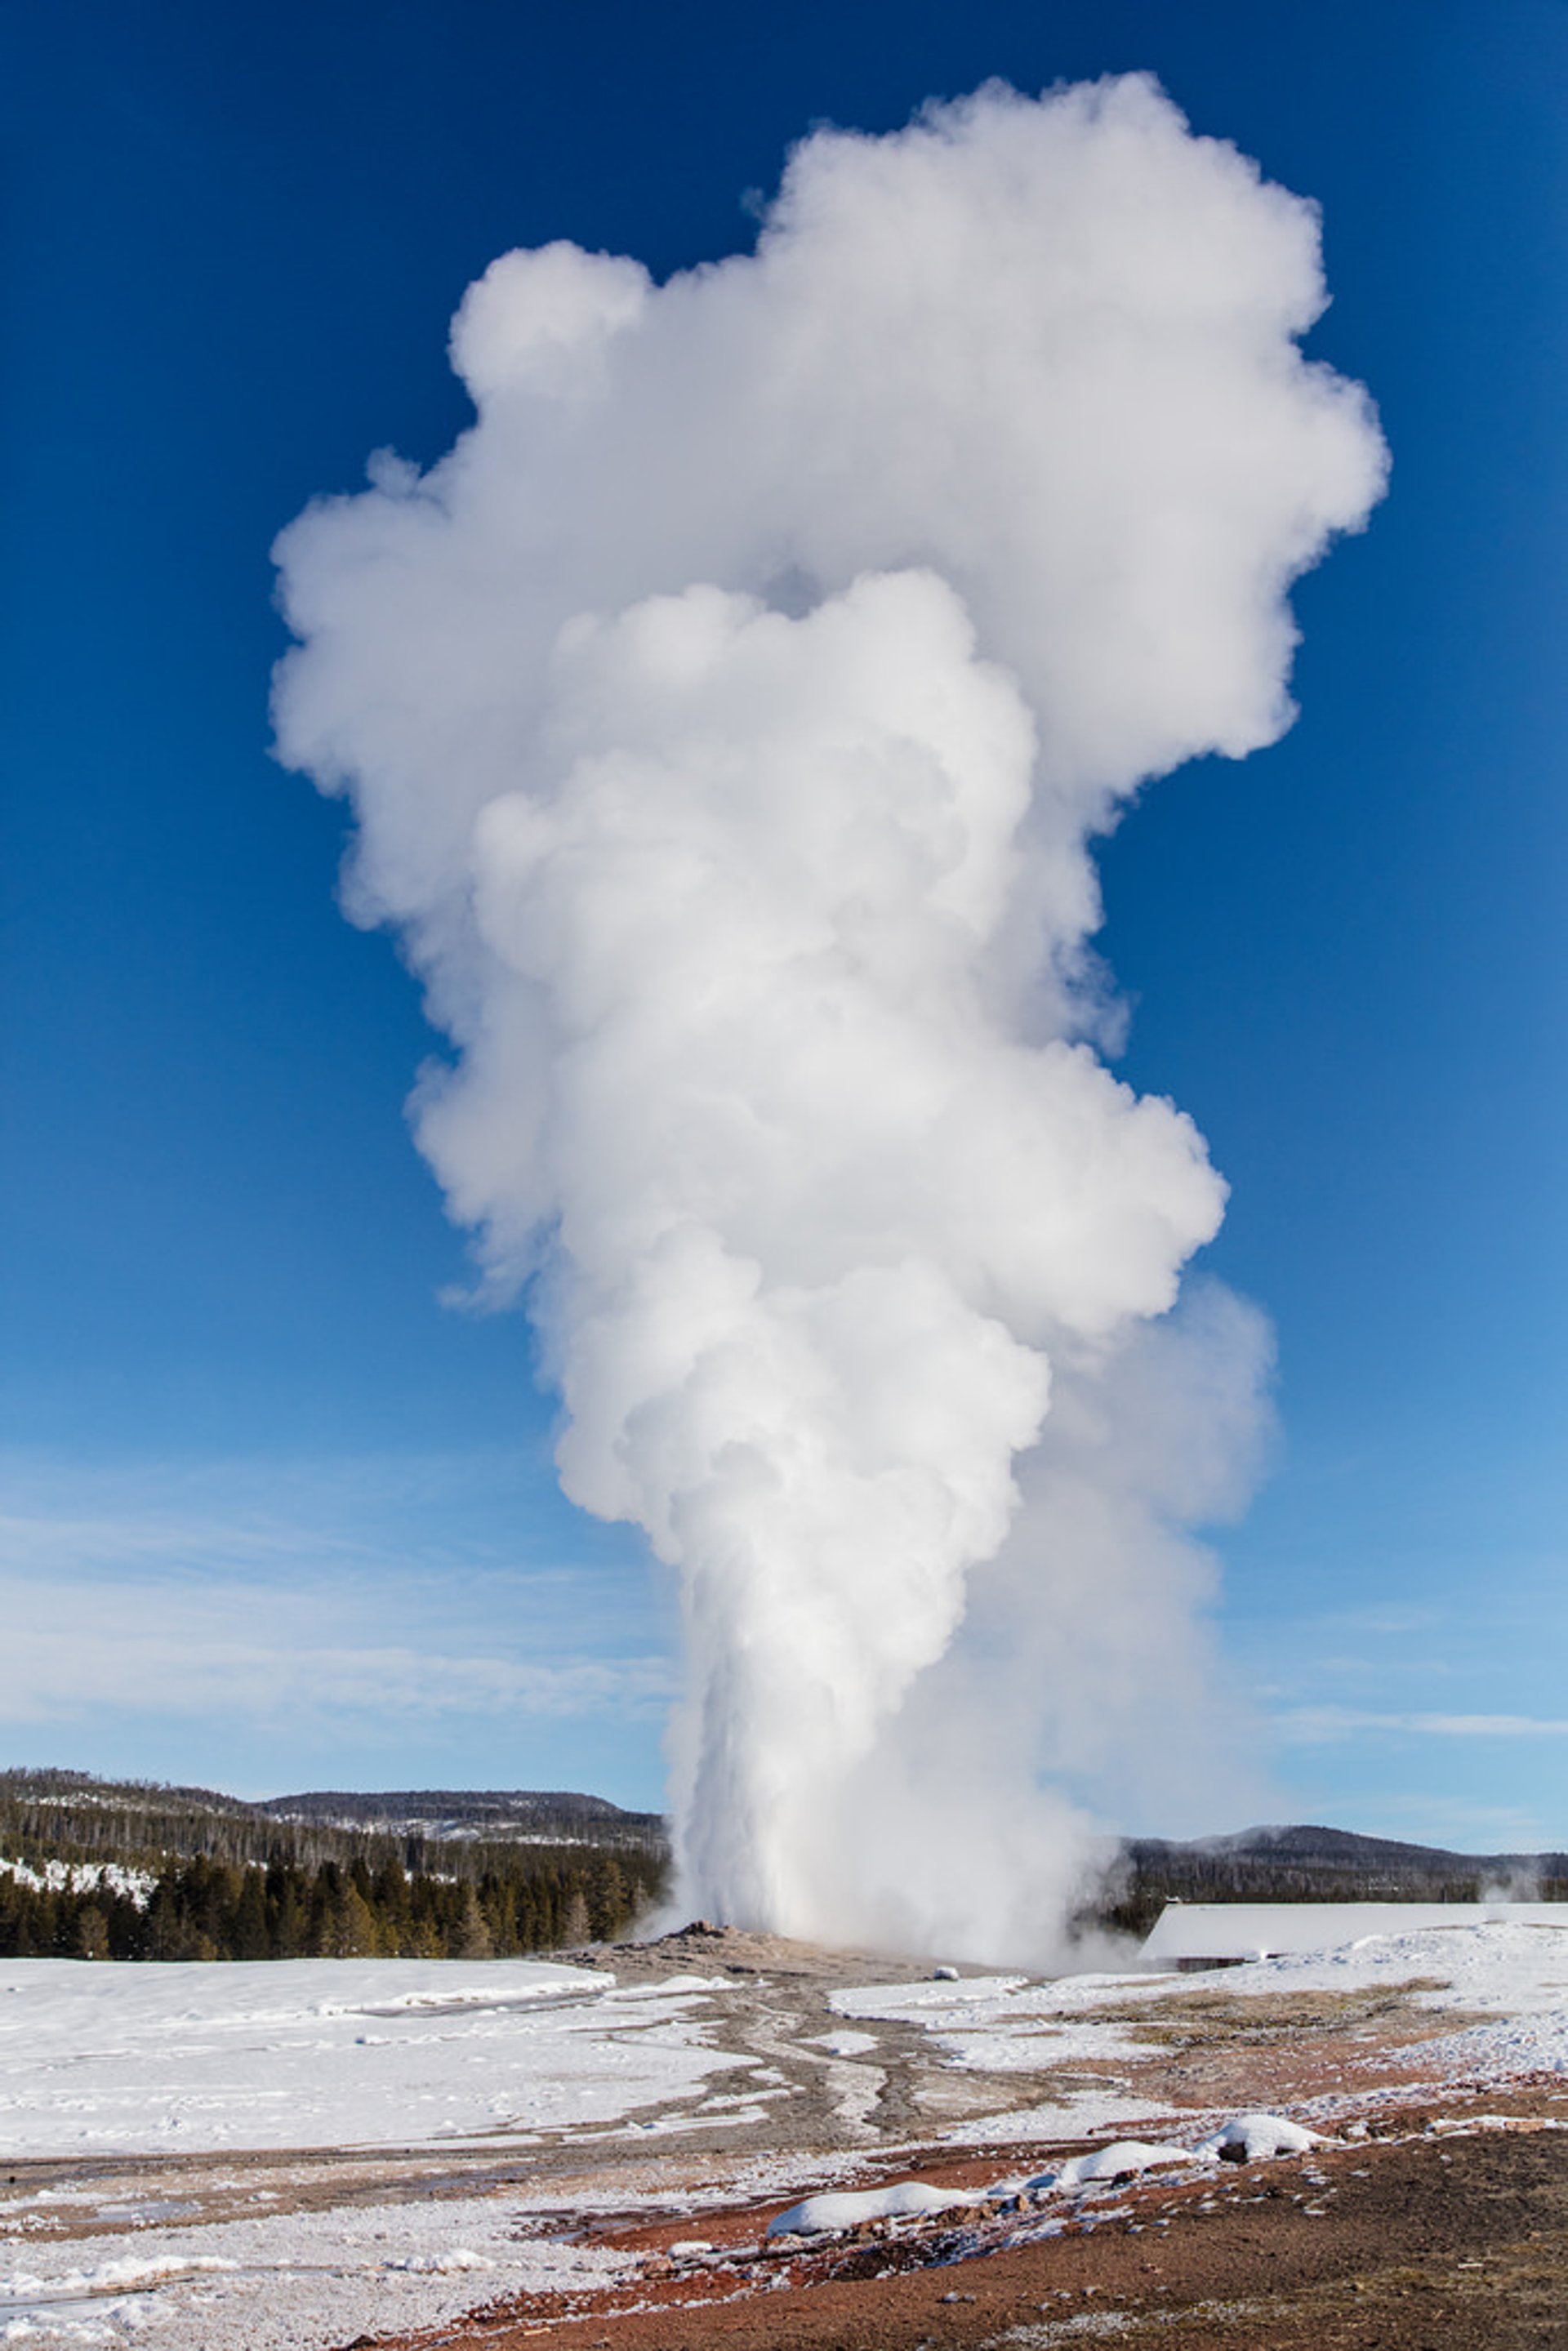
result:
[(505, 254), (475, 428), (280, 541), (282, 755), (458, 1049), (421, 1150), (536, 1281), (567, 1493), (679, 1570), (710, 1914), (1032, 1956), (1086, 1831), (973, 1775), (1201, 1679), (1267, 1340), (1171, 1319), (1225, 1187), (1091, 1049), (1088, 839), (1291, 717), (1284, 590), (1382, 484), (1321, 303), (1150, 80), (987, 87), (663, 287)]

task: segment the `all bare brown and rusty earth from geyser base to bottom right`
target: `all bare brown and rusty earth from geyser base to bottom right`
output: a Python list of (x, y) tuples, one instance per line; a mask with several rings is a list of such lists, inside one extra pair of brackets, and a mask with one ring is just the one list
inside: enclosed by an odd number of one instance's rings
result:
[[(686, 1963), (698, 1956), (693, 1949)], [(646, 1958), (607, 1954), (623, 1982), (644, 1963), (668, 1972), (668, 1947)], [(755, 1937), (715, 1937), (705, 1972), (717, 1972), (715, 1961), (757, 1970), (759, 1994), (766, 1987), (757, 2029), (769, 2003), (790, 2015), (790, 2038), (771, 2036), (780, 2052), (797, 2048), (813, 2020), (811, 1991), (825, 2015), (827, 1989), (853, 1980), (842, 1956), (764, 1951)], [(863, 1980), (896, 1972), (875, 1963)], [(581, 2233), (639, 2252), (632, 2280), (571, 2299), (522, 2297), (425, 2335), (360, 2337), (360, 2351), (534, 2351), (550, 2342), (574, 2351), (1046, 2351), (1098, 2342), (1128, 2351), (1568, 2351), (1568, 2088), (1552, 2076), (1434, 2092), (1418, 2052), (1434, 2034), (1432, 2012), (1413, 1998), (1422, 1989), (1241, 1998), (1225, 1977), (1208, 1977), (1175, 1998), (1107, 2008), (1107, 2020), (1138, 2024), (1157, 2055), (1072, 2076), (1147, 2095), (1143, 2135), (1157, 2139), (1194, 2137), (1199, 2116), (1239, 2106), (1288, 2114), (1319, 2102), (1314, 2121), (1331, 2137), (1309, 2156), (1227, 2163), (1199, 2184), (1145, 2175), (1077, 2205), (997, 2210), (976, 2201), (818, 2248), (764, 2236), (792, 2198), (748, 2196), (736, 2146), (628, 2163), (628, 2189), (658, 2182), (675, 2198), (656, 2224), (646, 2208), (607, 2212), (607, 2165), (592, 2165), (578, 2175), (585, 2203), (597, 2205), (583, 2210)], [(1439, 2029), (1460, 2022), (1448, 2010)], [(922, 2071), (929, 2045), (912, 2031), (898, 2048), (886, 2027), (877, 2031), (886, 2081), (863, 2114), (865, 2151), (851, 2170), (825, 2161), (827, 2184), (919, 2177), (980, 2198), (997, 2179), (1020, 2179), (1091, 2144), (922, 2146), (919, 2123), (936, 2118)], [(764, 2043), (752, 2036), (750, 2045)], [(978, 2090), (994, 2111), (994, 2081), (957, 2088)], [(1020, 2102), (1060, 2088), (1030, 2078)], [(1333, 2102), (1328, 2116), (1324, 2099)], [(1190, 2118), (1159, 2118), (1161, 2106), (1190, 2109)], [(1138, 2135), (1135, 2125), (1121, 2135)], [(797, 2128), (788, 2146), (799, 2151)], [(729, 2198), (715, 2196), (724, 2172), (736, 2182)], [(550, 2226), (557, 2231), (562, 2217)], [(696, 2241), (710, 2250), (691, 2250)]]

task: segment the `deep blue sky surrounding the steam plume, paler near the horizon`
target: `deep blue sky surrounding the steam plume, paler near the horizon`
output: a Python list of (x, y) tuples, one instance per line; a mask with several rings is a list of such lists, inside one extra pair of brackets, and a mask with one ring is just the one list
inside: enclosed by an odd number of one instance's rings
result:
[[(1218, 1634), (1281, 1817), (1568, 1846), (1568, 16), (1425, 5), (12, 14), (5, 1761), (656, 1803), (670, 1601), (444, 1310), (430, 1051), (268, 757), (268, 545), (465, 423), (550, 237), (750, 242), (809, 125), (1147, 66), (1326, 219), (1394, 480), (1298, 590), (1298, 726), (1105, 846), (1124, 1074), (1208, 1136), (1279, 1335)], [(1147, 1820), (1133, 1827), (1239, 1827)]]

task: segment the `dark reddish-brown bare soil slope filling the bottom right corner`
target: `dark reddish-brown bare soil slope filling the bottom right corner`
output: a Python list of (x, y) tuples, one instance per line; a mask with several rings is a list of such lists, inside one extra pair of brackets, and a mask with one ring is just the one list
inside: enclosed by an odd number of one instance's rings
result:
[[(1507, 2128), (1505, 2128), (1507, 2125)], [(1371, 2137), (1222, 2165), (1213, 2184), (1143, 2179), (1034, 2243), (1009, 2219), (919, 2236), (759, 2250), (773, 2208), (618, 2233), (632, 2288), (538, 2299), (376, 2351), (1535, 2351), (1568, 2346), (1568, 2092), (1380, 2109)], [(1006, 2151), (1016, 2163), (1020, 2149)], [(999, 2151), (914, 2163), (947, 2186)], [(1025, 2217), (1027, 2224), (1027, 2217)], [(661, 2255), (701, 2226), (715, 2255)], [(980, 2241), (994, 2250), (976, 2250)], [(724, 2257), (729, 2255), (729, 2257)]]

